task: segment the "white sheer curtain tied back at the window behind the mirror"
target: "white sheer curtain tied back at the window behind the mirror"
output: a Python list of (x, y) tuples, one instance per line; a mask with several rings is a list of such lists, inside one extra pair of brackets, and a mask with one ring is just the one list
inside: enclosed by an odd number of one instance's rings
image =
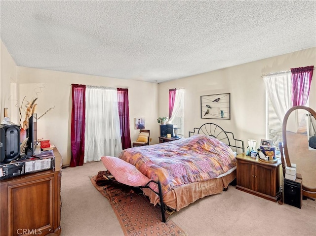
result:
[(291, 71), (262, 76), (266, 91), (282, 124), (285, 113), (292, 107)]

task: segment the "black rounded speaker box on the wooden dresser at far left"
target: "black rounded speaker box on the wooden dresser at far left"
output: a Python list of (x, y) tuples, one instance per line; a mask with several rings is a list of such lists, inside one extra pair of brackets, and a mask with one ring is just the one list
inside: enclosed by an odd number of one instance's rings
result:
[(7, 163), (20, 157), (20, 127), (0, 125), (0, 160)]

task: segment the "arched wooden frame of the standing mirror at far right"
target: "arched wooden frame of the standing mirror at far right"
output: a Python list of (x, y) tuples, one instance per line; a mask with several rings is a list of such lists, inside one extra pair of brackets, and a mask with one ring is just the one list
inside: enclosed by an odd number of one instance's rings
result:
[[(286, 161), (286, 165), (288, 167), (292, 167), (292, 165), (291, 165), (290, 157), (288, 155), (288, 148), (287, 148), (287, 142), (286, 142), (286, 124), (287, 124), (288, 117), (290, 116), (292, 111), (295, 111), (298, 109), (307, 110), (308, 112), (310, 112), (314, 116), (314, 118), (316, 118), (316, 112), (308, 106), (293, 106), (285, 113), (283, 123), (282, 123), (282, 138), (283, 138), (283, 148), (284, 148), (285, 161)], [(283, 155), (281, 155), (281, 158), (282, 158), (281, 161), (282, 161), (282, 169), (283, 169), (283, 177), (284, 177), (285, 176), (285, 165), (284, 165), (284, 158), (282, 156)], [(302, 177), (303, 177), (303, 181), (302, 181), (303, 196), (316, 199), (316, 188), (309, 188), (309, 187), (305, 186), (303, 184), (304, 183), (304, 176), (302, 176)]]

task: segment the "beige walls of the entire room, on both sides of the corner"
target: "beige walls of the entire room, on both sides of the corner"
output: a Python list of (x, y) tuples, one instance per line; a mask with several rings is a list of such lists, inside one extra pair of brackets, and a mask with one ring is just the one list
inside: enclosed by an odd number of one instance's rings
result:
[[(185, 136), (188, 136), (188, 132), (193, 131), (194, 127), (212, 122), (226, 131), (233, 132), (236, 138), (244, 141), (249, 138), (260, 140), (265, 138), (266, 134), (265, 87), (261, 75), (311, 65), (316, 66), (316, 48), (156, 84), (17, 67), (1, 41), (0, 114), (2, 119), (3, 107), (9, 106), (10, 81), (18, 81), (20, 85), (20, 103), (24, 96), (26, 101), (38, 96), (39, 116), (55, 106), (40, 118), (39, 138), (50, 139), (58, 147), (64, 158), (64, 164), (67, 165), (71, 158), (72, 83), (128, 88), (131, 139), (135, 139), (138, 134), (138, 131), (134, 130), (134, 118), (145, 117), (146, 128), (151, 130), (153, 138), (151, 144), (158, 143), (158, 116), (168, 116), (169, 89), (182, 87), (185, 88)], [(316, 110), (315, 78), (314, 73), (310, 93), (310, 106), (314, 110)], [(201, 119), (200, 96), (220, 93), (231, 93), (231, 120)]]

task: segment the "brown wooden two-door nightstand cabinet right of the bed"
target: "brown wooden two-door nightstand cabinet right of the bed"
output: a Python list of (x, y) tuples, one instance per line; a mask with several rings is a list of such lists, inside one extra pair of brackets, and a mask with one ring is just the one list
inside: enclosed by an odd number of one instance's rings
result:
[(246, 156), (237, 157), (236, 188), (244, 192), (276, 202), (280, 197), (279, 166), (281, 161), (266, 163), (258, 158)]

